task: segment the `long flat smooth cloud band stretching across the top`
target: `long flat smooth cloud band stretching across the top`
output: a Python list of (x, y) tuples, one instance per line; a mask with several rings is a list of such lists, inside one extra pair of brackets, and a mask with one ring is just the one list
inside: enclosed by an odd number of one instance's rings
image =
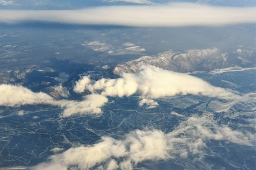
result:
[(0, 22), (54, 22), (116, 26), (221, 26), (255, 23), (256, 7), (172, 3), (157, 6), (103, 6), (81, 10), (0, 10)]

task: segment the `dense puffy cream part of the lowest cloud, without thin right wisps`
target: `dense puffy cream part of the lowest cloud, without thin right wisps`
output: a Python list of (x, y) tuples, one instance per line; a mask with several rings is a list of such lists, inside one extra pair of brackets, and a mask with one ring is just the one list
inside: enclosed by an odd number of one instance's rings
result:
[[(180, 150), (180, 144), (186, 146), (184, 150)], [(54, 170), (58, 167), (60, 170), (67, 170), (70, 166), (91, 169), (108, 162), (104, 165), (108, 170), (118, 167), (131, 170), (138, 162), (166, 160), (181, 151), (193, 152), (199, 149), (201, 144), (203, 143), (198, 141), (188, 144), (186, 139), (167, 136), (160, 130), (135, 130), (126, 134), (122, 140), (104, 136), (96, 144), (70, 148), (50, 156), (48, 162), (38, 164), (33, 169)], [(122, 161), (118, 165), (117, 161), (120, 160)]]

